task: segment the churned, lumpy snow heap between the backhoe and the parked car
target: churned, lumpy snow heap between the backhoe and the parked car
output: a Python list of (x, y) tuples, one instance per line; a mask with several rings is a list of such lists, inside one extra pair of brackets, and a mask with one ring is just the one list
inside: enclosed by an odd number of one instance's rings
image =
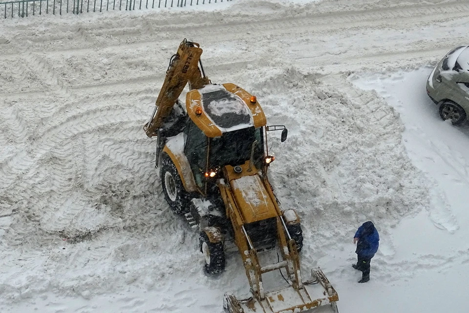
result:
[(348, 239), (366, 220), (393, 226), (428, 205), (426, 182), (401, 143), (399, 114), (382, 99), (364, 93), (362, 105), (294, 68), (251, 90), (268, 124), (289, 130), (284, 143), (268, 134), (276, 156), (270, 179), (282, 208), (298, 211), (314, 250)]

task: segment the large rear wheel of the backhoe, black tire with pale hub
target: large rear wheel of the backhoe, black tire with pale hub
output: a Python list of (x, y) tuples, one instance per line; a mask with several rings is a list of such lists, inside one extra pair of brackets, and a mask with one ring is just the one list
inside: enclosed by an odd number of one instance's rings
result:
[(189, 212), (189, 195), (184, 190), (176, 166), (168, 155), (164, 156), (161, 161), (161, 186), (165, 199), (174, 214), (184, 215)]

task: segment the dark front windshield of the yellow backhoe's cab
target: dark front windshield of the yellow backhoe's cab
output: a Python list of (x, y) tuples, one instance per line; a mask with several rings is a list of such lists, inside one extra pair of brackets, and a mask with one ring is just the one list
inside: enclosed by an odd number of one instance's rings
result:
[(254, 149), (254, 164), (257, 168), (263, 156), (262, 128), (244, 128), (224, 133), (220, 137), (210, 139), (209, 167), (225, 165), (241, 165), (251, 157), (251, 149), (257, 140)]

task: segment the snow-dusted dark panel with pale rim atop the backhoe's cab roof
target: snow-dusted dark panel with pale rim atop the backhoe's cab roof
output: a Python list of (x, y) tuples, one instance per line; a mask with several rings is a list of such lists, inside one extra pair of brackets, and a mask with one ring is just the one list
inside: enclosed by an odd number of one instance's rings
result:
[(207, 85), (199, 92), (204, 112), (223, 133), (254, 125), (246, 103), (222, 85)]

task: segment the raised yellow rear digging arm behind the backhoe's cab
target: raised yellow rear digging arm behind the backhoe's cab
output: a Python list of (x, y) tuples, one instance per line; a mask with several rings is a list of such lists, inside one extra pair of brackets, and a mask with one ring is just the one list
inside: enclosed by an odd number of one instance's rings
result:
[(163, 125), (165, 118), (170, 114), (187, 83), (190, 83), (191, 89), (199, 89), (210, 83), (200, 62), (201, 54), (202, 49), (199, 44), (184, 39), (179, 45), (177, 53), (171, 57), (165, 82), (156, 99), (156, 108), (149, 122), (143, 128), (147, 136), (157, 135), (158, 128)]

